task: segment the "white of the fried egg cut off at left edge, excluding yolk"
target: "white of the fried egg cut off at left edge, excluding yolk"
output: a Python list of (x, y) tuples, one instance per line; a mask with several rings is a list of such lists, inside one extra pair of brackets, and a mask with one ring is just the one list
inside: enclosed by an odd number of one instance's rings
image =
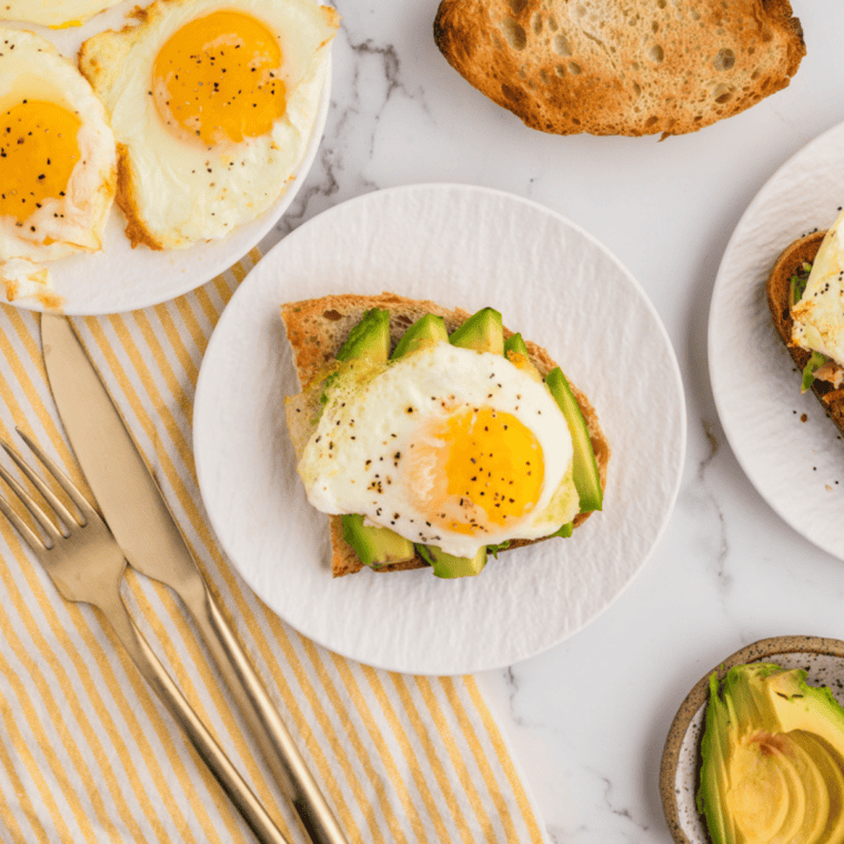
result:
[(0, 280), (10, 301), (47, 294), (51, 284), (43, 262), (101, 248), (117, 181), (114, 135), (91, 86), (46, 39), (0, 29), (0, 115), (24, 99), (53, 102), (77, 113), (80, 159), (66, 195), (46, 200), (26, 225), (0, 217)]

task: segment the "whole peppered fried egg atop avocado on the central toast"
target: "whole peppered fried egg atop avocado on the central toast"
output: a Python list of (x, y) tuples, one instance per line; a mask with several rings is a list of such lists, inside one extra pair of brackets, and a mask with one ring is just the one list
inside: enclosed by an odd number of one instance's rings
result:
[(334, 380), (299, 463), (310, 503), (449, 554), (539, 539), (580, 509), (569, 425), (541, 381), (446, 342)]

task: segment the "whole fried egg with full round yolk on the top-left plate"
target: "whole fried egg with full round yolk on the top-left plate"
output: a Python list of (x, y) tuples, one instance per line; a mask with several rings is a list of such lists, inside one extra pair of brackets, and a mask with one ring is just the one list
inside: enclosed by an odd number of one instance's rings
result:
[(132, 245), (228, 234), (283, 193), (319, 114), (339, 18), (313, 0), (159, 0), (82, 44), (118, 141)]

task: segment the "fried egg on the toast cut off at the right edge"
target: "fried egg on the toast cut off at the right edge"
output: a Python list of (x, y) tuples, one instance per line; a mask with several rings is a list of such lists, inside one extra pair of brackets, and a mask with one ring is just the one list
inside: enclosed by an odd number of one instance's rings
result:
[(844, 212), (821, 242), (806, 289), (791, 313), (792, 340), (844, 366)]

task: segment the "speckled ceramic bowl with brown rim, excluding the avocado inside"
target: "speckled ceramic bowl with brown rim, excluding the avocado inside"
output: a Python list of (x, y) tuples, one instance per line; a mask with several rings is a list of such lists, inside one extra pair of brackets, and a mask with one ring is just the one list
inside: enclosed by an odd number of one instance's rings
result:
[(785, 669), (805, 669), (812, 685), (830, 686), (844, 705), (844, 642), (816, 636), (777, 636), (743, 647), (706, 672), (683, 701), (665, 740), (660, 768), (662, 807), (677, 844), (710, 844), (695, 807), (701, 770), (701, 735), (713, 671), (721, 680), (733, 665), (775, 662)]

